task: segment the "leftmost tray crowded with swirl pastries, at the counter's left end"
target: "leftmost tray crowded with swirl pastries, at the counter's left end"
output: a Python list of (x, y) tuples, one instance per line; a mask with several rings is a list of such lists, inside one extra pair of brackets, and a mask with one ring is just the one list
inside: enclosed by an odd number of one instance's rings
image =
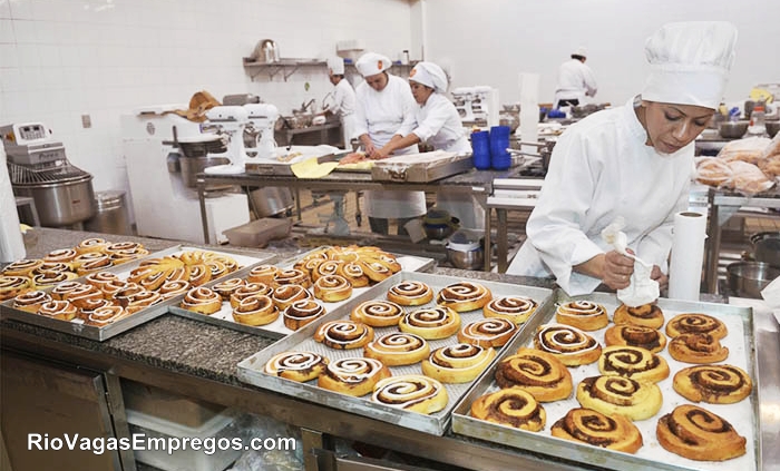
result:
[[(3, 317), (104, 341), (165, 314), (193, 287), (273, 256), (177, 245), (104, 269), (76, 268), (81, 276), (52, 285), (37, 284), (39, 278), (31, 277), (35, 284), (9, 296), (0, 311)], [(56, 264), (72, 266), (76, 259)]]

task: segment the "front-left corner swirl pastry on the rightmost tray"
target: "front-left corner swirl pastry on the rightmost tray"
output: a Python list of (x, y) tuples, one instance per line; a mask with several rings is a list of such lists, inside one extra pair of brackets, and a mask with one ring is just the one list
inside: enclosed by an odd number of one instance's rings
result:
[(521, 387), (507, 387), (478, 398), (471, 403), (471, 415), (529, 432), (538, 432), (547, 422), (545, 408)]

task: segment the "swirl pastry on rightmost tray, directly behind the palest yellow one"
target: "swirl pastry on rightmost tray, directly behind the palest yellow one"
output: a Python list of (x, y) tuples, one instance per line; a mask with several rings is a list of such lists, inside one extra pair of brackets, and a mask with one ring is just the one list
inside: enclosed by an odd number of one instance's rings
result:
[(651, 383), (669, 377), (666, 360), (637, 346), (607, 346), (598, 359), (598, 371)]

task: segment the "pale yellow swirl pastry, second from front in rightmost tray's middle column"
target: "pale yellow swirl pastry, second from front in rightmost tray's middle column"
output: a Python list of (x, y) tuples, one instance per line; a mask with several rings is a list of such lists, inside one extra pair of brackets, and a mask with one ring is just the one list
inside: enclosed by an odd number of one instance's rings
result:
[(577, 385), (577, 402), (605, 415), (645, 420), (661, 410), (663, 396), (655, 383), (623, 376), (591, 376)]

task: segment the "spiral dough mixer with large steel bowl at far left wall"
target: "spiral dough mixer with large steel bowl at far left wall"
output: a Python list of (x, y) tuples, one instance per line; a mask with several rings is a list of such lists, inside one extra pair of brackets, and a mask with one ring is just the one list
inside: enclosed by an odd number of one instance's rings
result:
[(95, 215), (92, 176), (68, 161), (41, 122), (0, 127), (13, 194), (31, 197), (41, 226), (80, 224)]

